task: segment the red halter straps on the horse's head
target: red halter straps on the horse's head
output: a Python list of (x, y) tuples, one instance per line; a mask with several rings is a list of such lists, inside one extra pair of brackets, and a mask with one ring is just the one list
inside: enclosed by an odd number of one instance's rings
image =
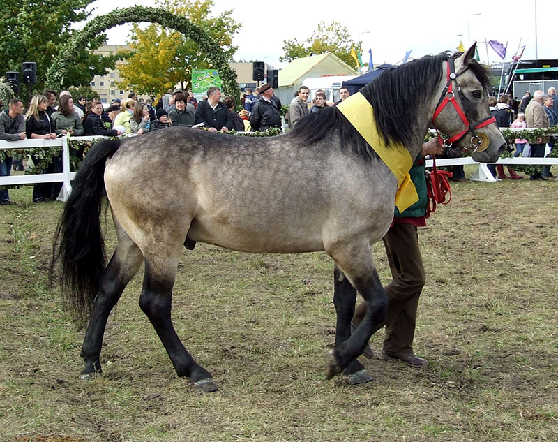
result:
[[(450, 138), (444, 141), (445, 146), (450, 146), (454, 142), (461, 140), (469, 132), (474, 137), (476, 135), (475, 129), (480, 129), (482, 127), (488, 126), (489, 124), (495, 123), (496, 119), (495, 117), (487, 117), (476, 123), (471, 121), (469, 115), (467, 115), (467, 108), (463, 110), (460, 104), (458, 103), (458, 101), (455, 100), (455, 92), (453, 91), (453, 82), (456, 82), (458, 75), (455, 74), (455, 63), (453, 57), (448, 58), (447, 64), (448, 64), (447, 83), (446, 83), (446, 87), (444, 88), (444, 91), (442, 91), (442, 97), (440, 97), (440, 101), (437, 105), (436, 110), (434, 111), (434, 115), (432, 116), (432, 126), (436, 128), (435, 121), (437, 117), (440, 115), (442, 110), (444, 110), (446, 105), (448, 105), (448, 103), (451, 103), (451, 105), (453, 105), (453, 108), (455, 109), (455, 112), (458, 112), (458, 115), (461, 121), (463, 122), (465, 128), (459, 133), (455, 133)], [(458, 87), (457, 89), (458, 89), (458, 94), (460, 94), (462, 100), (465, 99), (465, 97), (462, 95), (460, 88)]]

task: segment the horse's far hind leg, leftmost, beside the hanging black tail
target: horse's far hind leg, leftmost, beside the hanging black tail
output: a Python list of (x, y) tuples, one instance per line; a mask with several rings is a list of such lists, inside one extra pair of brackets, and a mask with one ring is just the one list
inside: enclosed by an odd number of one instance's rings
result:
[(142, 265), (143, 255), (140, 248), (116, 223), (116, 234), (119, 242), (109, 265), (100, 277), (99, 288), (91, 311), (89, 327), (82, 346), (82, 358), (85, 368), (80, 378), (89, 379), (101, 371), (100, 349), (110, 311), (120, 299), (124, 288)]

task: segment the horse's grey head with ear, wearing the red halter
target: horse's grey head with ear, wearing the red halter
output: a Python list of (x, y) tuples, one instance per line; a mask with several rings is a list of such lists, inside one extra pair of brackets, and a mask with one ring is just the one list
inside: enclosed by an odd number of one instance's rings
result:
[(474, 161), (493, 163), (506, 149), (506, 140), (488, 109), (488, 71), (474, 59), (476, 43), (458, 57), (448, 52), (444, 81), (432, 124), (449, 135), (446, 145), (472, 152)]

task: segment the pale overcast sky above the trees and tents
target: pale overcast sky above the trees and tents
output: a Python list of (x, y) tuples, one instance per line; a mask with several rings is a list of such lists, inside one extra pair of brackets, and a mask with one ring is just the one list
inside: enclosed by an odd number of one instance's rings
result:
[[(146, 6), (137, 0), (120, 0), (118, 4), (121, 8)], [(321, 21), (347, 27), (355, 40), (363, 42), (363, 61), (368, 61), (371, 49), (375, 65), (397, 63), (409, 50), (414, 58), (455, 50), (460, 39), (467, 46), (469, 38), (471, 43), (485, 39), (507, 42), (506, 61), (517, 50), (520, 38), (521, 45), (527, 45), (523, 59), (534, 59), (536, 54), (538, 59), (558, 59), (555, 0), (215, 0), (215, 5), (213, 15), (232, 9), (234, 19), (242, 24), (234, 36), (239, 47), (235, 59), (266, 61), (276, 68), (284, 66), (279, 61), (283, 41), (297, 38), (303, 42)], [(114, 1), (97, 0), (93, 6), (95, 14), (103, 14), (113, 9)], [(107, 32), (108, 43), (123, 44), (128, 33), (129, 27), (116, 27)], [(487, 57), (490, 63), (501, 60), (490, 47), (487, 55), (484, 43), (479, 45), (479, 54), (483, 62)]]

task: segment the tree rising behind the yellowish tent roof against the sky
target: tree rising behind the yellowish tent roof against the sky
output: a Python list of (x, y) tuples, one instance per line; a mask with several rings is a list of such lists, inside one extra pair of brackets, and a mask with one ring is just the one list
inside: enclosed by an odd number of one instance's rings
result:
[(292, 61), (300, 57), (331, 52), (349, 66), (355, 66), (354, 58), (351, 57), (351, 47), (354, 47), (356, 52), (362, 51), (362, 43), (352, 40), (347, 28), (338, 22), (332, 22), (329, 26), (319, 22), (312, 36), (303, 43), (299, 43), (296, 38), (284, 40), (283, 43), (285, 55), (279, 58), (280, 61)]

